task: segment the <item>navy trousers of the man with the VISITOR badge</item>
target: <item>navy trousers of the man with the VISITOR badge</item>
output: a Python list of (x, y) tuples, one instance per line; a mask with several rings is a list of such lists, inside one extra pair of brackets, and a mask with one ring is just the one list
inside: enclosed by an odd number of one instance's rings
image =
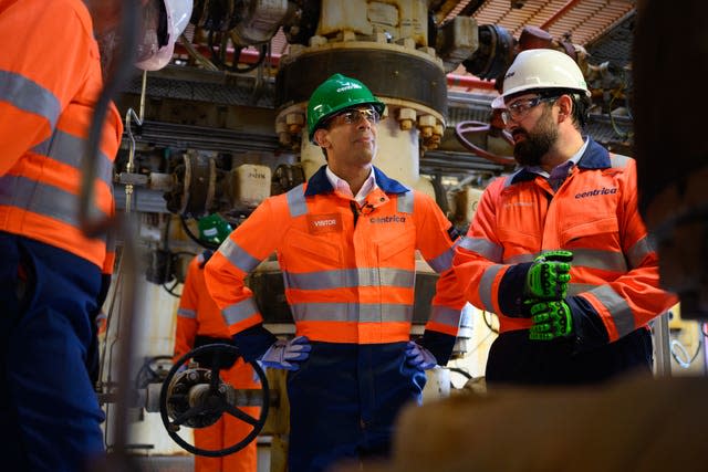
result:
[(420, 403), (426, 381), (405, 365), (405, 346), (312, 343), (301, 369), (288, 373), (289, 472), (389, 453), (400, 408)]

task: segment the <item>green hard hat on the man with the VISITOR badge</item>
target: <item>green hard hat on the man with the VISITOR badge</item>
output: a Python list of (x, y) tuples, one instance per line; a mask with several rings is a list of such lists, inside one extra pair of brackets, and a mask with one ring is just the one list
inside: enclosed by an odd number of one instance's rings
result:
[(320, 84), (308, 102), (308, 130), (314, 143), (314, 132), (335, 113), (356, 105), (372, 105), (383, 115), (386, 105), (356, 78), (334, 74)]

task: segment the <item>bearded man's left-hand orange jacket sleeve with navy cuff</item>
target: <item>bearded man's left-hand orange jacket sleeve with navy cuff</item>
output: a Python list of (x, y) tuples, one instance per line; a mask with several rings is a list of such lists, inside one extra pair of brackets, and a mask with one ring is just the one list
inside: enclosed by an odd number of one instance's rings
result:
[(527, 263), (503, 264), (498, 239), (497, 199), (504, 179), (492, 181), (479, 200), (472, 223), (455, 250), (452, 268), (465, 297), (479, 310), (520, 316)]

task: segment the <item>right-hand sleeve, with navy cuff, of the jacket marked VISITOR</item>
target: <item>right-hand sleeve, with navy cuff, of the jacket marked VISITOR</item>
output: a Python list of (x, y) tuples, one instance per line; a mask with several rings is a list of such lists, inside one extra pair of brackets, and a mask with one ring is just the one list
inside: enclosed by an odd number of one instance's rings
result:
[(439, 274), (431, 302), (430, 318), (426, 323), (419, 344), (433, 353), (438, 365), (444, 366), (452, 353), (466, 303), (452, 271), (452, 255), (459, 237), (431, 198), (417, 193), (416, 208), (418, 207), (423, 211), (416, 227), (417, 249), (428, 265)]

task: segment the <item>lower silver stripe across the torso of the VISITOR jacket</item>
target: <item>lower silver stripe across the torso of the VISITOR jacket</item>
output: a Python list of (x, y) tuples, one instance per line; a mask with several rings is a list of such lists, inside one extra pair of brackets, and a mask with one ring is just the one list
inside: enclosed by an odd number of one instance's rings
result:
[(410, 322), (412, 305), (364, 303), (298, 303), (291, 305), (295, 322)]

